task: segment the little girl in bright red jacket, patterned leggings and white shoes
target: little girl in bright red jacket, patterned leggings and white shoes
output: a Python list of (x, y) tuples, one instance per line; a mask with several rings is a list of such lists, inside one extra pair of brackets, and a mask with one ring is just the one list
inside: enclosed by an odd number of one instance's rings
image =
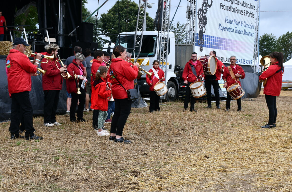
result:
[(92, 125), (98, 131), (98, 136), (109, 136), (109, 132), (102, 130), (103, 123), (107, 117), (107, 97), (111, 95), (107, 90), (104, 78), (107, 76), (107, 67), (100, 66), (95, 74), (93, 89), (91, 93), (91, 109), (93, 110)]

